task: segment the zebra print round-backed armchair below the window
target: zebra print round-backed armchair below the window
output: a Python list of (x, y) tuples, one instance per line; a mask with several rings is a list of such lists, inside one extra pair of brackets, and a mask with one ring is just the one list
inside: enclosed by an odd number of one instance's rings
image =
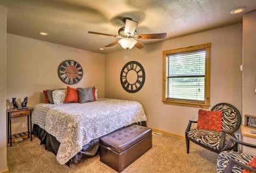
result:
[[(191, 124), (197, 123), (197, 121), (189, 121), (185, 132), (187, 154), (190, 152), (190, 141), (213, 152), (220, 153), (229, 139), (232, 136), (235, 138), (233, 133), (239, 129), (241, 124), (241, 115), (238, 109), (233, 105), (221, 103), (215, 105), (212, 111), (222, 112), (222, 132), (191, 129)], [(233, 144), (229, 149), (237, 150), (237, 144)]]

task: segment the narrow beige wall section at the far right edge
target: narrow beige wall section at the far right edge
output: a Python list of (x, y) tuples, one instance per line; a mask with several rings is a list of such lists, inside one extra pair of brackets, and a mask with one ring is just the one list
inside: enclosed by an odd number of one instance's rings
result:
[[(256, 116), (256, 12), (243, 16), (243, 115)], [(244, 117), (243, 117), (244, 118)]]

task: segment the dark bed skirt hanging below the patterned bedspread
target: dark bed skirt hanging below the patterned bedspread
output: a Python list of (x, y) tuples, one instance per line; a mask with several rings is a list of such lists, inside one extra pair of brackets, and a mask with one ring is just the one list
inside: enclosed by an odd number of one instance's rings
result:
[[(133, 123), (133, 124), (138, 124), (138, 125), (142, 125), (142, 126), (146, 127), (146, 121), (141, 121), (141, 122), (137, 122), (137, 123)], [(130, 124), (130, 125), (132, 125), (132, 124)], [(124, 127), (122, 127), (121, 129), (123, 129), (123, 128)], [(40, 139), (40, 141), (41, 141), (40, 145), (44, 144), (46, 150), (57, 155), (57, 152), (60, 147), (60, 142), (54, 136), (52, 136), (51, 134), (46, 132), (44, 129), (41, 129), (41, 127), (39, 127), (37, 124), (33, 125), (32, 134), (37, 136)], [(90, 158), (90, 157), (94, 157), (95, 155), (98, 154), (98, 152), (99, 152), (99, 138), (93, 139), (92, 141), (90, 141), (90, 143), (83, 146), (82, 150), (80, 150), (80, 152), (78, 152), (73, 158), (71, 158), (71, 160), (69, 160), (66, 163), (66, 165), (69, 166), (71, 163), (77, 164), (81, 160), (84, 160), (84, 159)]]

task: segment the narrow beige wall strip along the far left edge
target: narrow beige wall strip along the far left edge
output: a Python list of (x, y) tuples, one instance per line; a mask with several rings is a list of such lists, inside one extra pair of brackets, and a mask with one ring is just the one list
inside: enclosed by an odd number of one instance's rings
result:
[(6, 161), (6, 21), (7, 8), (0, 5), (0, 172), (7, 171)]

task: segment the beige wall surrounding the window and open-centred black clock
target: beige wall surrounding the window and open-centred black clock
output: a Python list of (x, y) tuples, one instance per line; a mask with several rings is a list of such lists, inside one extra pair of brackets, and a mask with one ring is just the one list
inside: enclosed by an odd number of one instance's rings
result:
[[(107, 54), (105, 96), (141, 102), (148, 115), (149, 127), (185, 136), (188, 120), (197, 119), (199, 108), (163, 104), (162, 52), (208, 42), (212, 43), (210, 105), (227, 102), (241, 111), (241, 24), (149, 44), (146, 49), (134, 48)], [(121, 69), (131, 60), (140, 62), (146, 71), (143, 88), (133, 94), (123, 90), (119, 82)]]

